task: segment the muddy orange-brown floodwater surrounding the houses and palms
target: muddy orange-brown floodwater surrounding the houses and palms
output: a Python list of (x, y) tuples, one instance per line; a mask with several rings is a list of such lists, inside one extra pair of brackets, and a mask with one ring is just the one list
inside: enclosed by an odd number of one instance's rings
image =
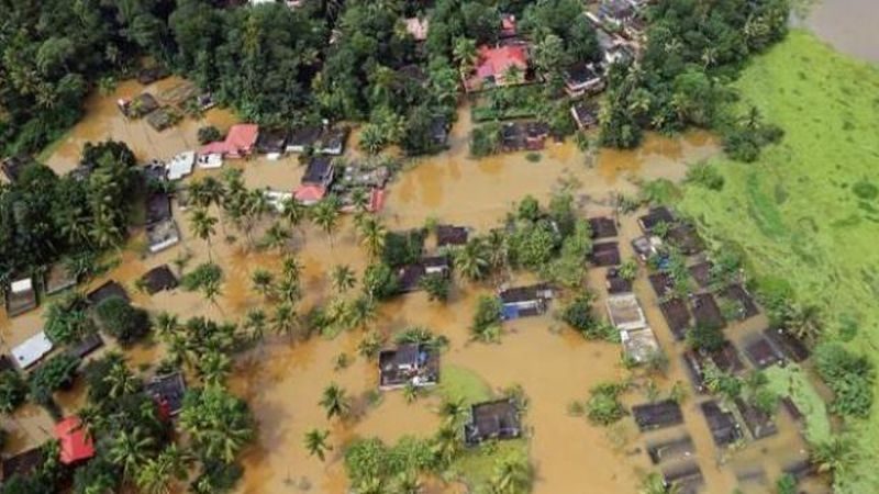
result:
[[(162, 85), (173, 82), (179, 80)], [(151, 88), (155, 91), (160, 89)], [(201, 122), (185, 121), (176, 128), (156, 133), (145, 122), (129, 122), (119, 114), (114, 106), (115, 98), (141, 90), (134, 82), (123, 82), (115, 94), (90, 99), (88, 116), (48, 157), (48, 165), (59, 172), (68, 170), (75, 166), (85, 142), (109, 137), (129, 142), (142, 160), (166, 158), (191, 149), (196, 131), (203, 124)], [(678, 180), (686, 173), (687, 164), (717, 151), (716, 144), (708, 135), (690, 134), (679, 139), (650, 136), (635, 151), (601, 151), (596, 155), (583, 154), (572, 144), (550, 144), (539, 154), (537, 161), (527, 159), (525, 154), (471, 160), (466, 150), (470, 126), (467, 108), (463, 108), (447, 153), (414, 161), (390, 184), (386, 209), (381, 213), (390, 229), (421, 226), (427, 218), (438, 218), (485, 232), (497, 225), (511, 205), (525, 194), (546, 201), (553, 192), (563, 189), (575, 194), (585, 214), (608, 214), (614, 194), (636, 192), (634, 180)], [(229, 112), (222, 110), (209, 112), (204, 120), (221, 128), (234, 121)], [(226, 166), (244, 170), (249, 187), (289, 190), (298, 183), (301, 175), (296, 158), (227, 161)], [(197, 175), (207, 173), (218, 171), (199, 171)], [(271, 307), (253, 292), (249, 280), (252, 272), (259, 267), (277, 271), (280, 255), (254, 251), (243, 238), (229, 242), (225, 238), (227, 234), (241, 235), (222, 222), (209, 252), (204, 242), (189, 234), (186, 212), (175, 205), (175, 214), (182, 228), (180, 246), (156, 256), (142, 257), (135, 235), (131, 246), (123, 250), (119, 266), (90, 285), (115, 279), (127, 285), (135, 303), (152, 311), (177, 313), (183, 319), (204, 315), (237, 321), (248, 310), (258, 306), (264, 306), (270, 315)], [(631, 238), (636, 233), (634, 217), (622, 220), (623, 238)], [(259, 222), (256, 237), (268, 223), (270, 218)], [(623, 238), (621, 247), (624, 257), (628, 257), (631, 250)], [(346, 263), (361, 273), (367, 265), (349, 220), (343, 222), (333, 238), (313, 227), (296, 232), (289, 247), (304, 266), (305, 297), (300, 313), (335, 296), (327, 281), (327, 273), (334, 266)], [(191, 256), (189, 268), (208, 260), (209, 255), (223, 267), (225, 279), (215, 305), (198, 293), (182, 290), (152, 297), (134, 290), (134, 281), (143, 272), (154, 266), (171, 263), (183, 252)], [(590, 270), (589, 285), (596, 293), (603, 292), (603, 269)], [(667, 392), (674, 382), (686, 381), (678, 357), (681, 348), (671, 340), (647, 282), (638, 281), (635, 289), (663, 348), (671, 358), (668, 377), (658, 382)], [(627, 371), (620, 364), (620, 348), (585, 341), (564, 330), (552, 315), (509, 324), (500, 345), (471, 343), (467, 328), (477, 295), (490, 290), (488, 285), (471, 287), (459, 282), (447, 305), (429, 302), (424, 294), (408, 295), (385, 304), (370, 326), (385, 335), (410, 326), (427, 327), (449, 339), (442, 364), (469, 370), (496, 390), (515, 384), (522, 386), (530, 403), (525, 420), (536, 470), (535, 493), (635, 492), (639, 474), (650, 470), (652, 465), (644, 452), (645, 438), (637, 434), (633, 422), (625, 419), (608, 429), (591, 426), (585, 418), (569, 416), (567, 412), (571, 402), (588, 397), (588, 390), (593, 385), (619, 381), (626, 375)], [(35, 333), (41, 322), (41, 312), (11, 322), (0, 318), (3, 349), (8, 350)], [(741, 332), (756, 330), (763, 324), (765, 321), (752, 321)], [(436, 430), (438, 398), (435, 396), (407, 403), (400, 392), (388, 392), (377, 404), (369, 403), (368, 395), (376, 389), (378, 377), (375, 362), (357, 355), (361, 337), (357, 330), (343, 333), (334, 339), (316, 336), (307, 341), (268, 335), (263, 344), (237, 359), (231, 385), (248, 401), (259, 425), (254, 446), (243, 456), (245, 474), (240, 493), (274, 494), (300, 490), (343, 493), (346, 480), (341, 457), (346, 442), (356, 437), (372, 436), (392, 442), (405, 435), (426, 437)], [(337, 359), (343, 353), (349, 357), (351, 363), (337, 369)], [(159, 346), (140, 346), (127, 352), (134, 366), (155, 363), (162, 355)], [(337, 382), (354, 398), (355, 416), (349, 420), (327, 420), (318, 405), (321, 392), (330, 382)], [(73, 412), (81, 401), (81, 393), (74, 390), (58, 398), (67, 412)], [(626, 397), (626, 404), (645, 400), (634, 392)], [(736, 486), (733, 470), (721, 469), (721, 463), (763, 465), (772, 480), (777, 476), (779, 462), (802, 456), (802, 442), (793, 426), (783, 423), (775, 438), (735, 454), (719, 456), (711, 445), (703, 418), (697, 415), (696, 403), (690, 400), (685, 405), (686, 428), (697, 444), (699, 463), (710, 487), (705, 492), (726, 493)], [(41, 442), (47, 437), (51, 426), (43, 411), (24, 407), (8, 426), (13, 429), (9, 451)], [(326, 462), (310, 458), (304, 451), (303, 438), (312, 428), (331, 431), (330, 442), (334, 449)], [(463, 485), (432, 482), (427, 491), (466, 490)], [(764, 487), (746, 492), (768, 491)]]

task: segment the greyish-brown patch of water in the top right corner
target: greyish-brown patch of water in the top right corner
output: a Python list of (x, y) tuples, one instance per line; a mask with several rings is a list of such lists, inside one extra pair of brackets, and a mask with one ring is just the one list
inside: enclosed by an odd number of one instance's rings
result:
[(879, 63), (876, 0), (817, 0), (805, 24), (841, 52)]

